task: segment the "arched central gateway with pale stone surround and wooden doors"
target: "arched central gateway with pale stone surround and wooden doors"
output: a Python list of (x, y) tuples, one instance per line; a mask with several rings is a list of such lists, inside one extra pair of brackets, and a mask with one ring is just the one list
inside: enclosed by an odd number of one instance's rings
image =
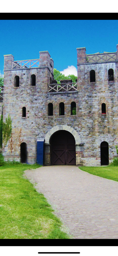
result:
[[(57, 140), (57, 146), (54, 142), (55, 139)], [(79, 155), (80, 143), (80, 137), (72, 127), (68, 125), (53, 127), (45, 136), (44, 164), (79, 165), (81, 159)]]

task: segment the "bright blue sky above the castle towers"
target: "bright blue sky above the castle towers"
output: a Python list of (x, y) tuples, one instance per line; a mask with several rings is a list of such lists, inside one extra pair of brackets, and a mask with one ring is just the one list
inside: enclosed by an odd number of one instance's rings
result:
[(78, 47), (86, 47), (87, 54), (116, 52), (118, 20), (0, 20), (0, 35), (1, 74), (4, 54), (12, 54), (14, 60), (29, 60), (39, 58), (39, 51), (44, 50), (57, 70), (68, 66), (76, 70)]

